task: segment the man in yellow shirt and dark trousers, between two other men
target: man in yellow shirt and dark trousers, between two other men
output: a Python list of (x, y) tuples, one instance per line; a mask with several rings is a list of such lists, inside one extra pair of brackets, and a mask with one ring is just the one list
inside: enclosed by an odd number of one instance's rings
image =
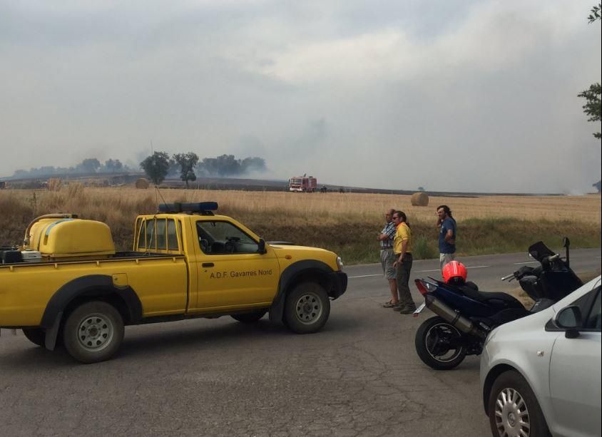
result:
[[(409, 272), (412, 270), (412, 230), (403, 211), (395, 211), (393, 222), (397, 226), (393, 240), (393, 252), (396, 260), (393, 267), (397, 273), (397, 292), (399, 293), (399, 313), (412, 314), (416, 304), (409, 292)], [(397, 308), (394, 308), (397, 310)]]

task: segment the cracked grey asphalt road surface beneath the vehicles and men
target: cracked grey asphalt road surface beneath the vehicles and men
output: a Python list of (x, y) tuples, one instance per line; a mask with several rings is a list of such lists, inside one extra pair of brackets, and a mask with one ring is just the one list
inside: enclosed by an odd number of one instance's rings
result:
[[(600, 255), (573, 251), (571, 264), (599, 269)], [(499, 277), (529, 259), (463, 261), (481, 289), (499, 290), (508, 287)], [(414, 262), (414, 276), (437, 276), (437, 265)], [(414, 333), (426, 316), (380, 307), (388, 289), (379, 266), (346, 271), (348, 291), (317, 334), (267, 317), (128, 327), (114, 359), (86, 366), (3, 330), (0, 435), (488, 436), (479, 359), (454, 371), (424, 366)]]

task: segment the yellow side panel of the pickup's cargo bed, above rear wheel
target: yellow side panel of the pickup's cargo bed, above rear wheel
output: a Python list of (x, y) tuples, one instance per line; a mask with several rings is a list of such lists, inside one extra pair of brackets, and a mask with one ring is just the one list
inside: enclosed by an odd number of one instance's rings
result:
[[(0, 264), (0, 327), (39, 326), (51, 297), (85, 277), (105, 278), (100, 282), (117, 289), (131, 288), (141, 301), (143, 317), (186, 311), (188, 269), (183, 255), (117, 252), (110, 257)], [(90, 287), (95, 287), (92, 279)]]

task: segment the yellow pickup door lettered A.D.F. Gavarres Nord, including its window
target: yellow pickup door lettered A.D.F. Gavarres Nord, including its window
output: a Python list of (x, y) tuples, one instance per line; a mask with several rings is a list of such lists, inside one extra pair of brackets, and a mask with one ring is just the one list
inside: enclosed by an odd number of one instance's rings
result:
[(280, 267), (275, 252), (260, 254), (258, 242), (233, 223), (198, 220), (200, 256), (196, 262), (196, 307), (206, 311), (269, 305), (277, 290)]

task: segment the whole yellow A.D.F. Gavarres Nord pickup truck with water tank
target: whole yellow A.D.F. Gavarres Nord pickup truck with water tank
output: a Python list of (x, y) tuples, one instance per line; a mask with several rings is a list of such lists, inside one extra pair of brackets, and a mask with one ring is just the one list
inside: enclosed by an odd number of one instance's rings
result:
[(0, 250), (0, 328), (46, 349), (62, 344), (83, 363), (111, 358), (132, 324), (252, 323), (269, 312), (298, 334), (320, 330), (347, 288), (340, 257), (267, 243), (217, 208), (175, 203), (138, 216), (131, 252), (116, 252), (103, 222), (38, 217), (22, 247)]

